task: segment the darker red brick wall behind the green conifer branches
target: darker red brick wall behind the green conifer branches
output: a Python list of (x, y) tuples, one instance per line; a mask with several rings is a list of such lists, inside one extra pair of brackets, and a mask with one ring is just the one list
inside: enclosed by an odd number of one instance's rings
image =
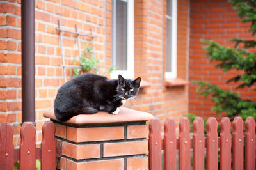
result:
[[(240, 23), (237, 12), (228, 1), (191, 1), (190, 6), (190, 47), (189, 47), (189, 79), (201, 80), (220, 86), (226, 90), (234, 90), (236, 84), (225, 84), (225, 81), (237, 75), (231, 70), (223, 73), (214, 67), (214, 62), (205, 57), (201, 38), (215, 40), (222, 45), (234, 47), (231, 38), (250, 38), (249, 24)], [(237, 91), (243, 98), (252, 98), (253, 90)], [(203, 117), (216, 116), (211, 111), (211, 100), (206, 100), (196, 93), (195, 84), (189, 86), (189, 112)], [(221, 115), (217, 116), (218, 118)]]

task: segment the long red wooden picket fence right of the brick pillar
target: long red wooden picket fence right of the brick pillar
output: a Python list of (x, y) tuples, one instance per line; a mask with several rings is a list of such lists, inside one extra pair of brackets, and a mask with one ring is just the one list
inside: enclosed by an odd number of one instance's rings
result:
[[(196, 118), (193, 122), (193, 138), (190, 137), (188, 118), (181, 118), (179, 122), (179, 139), (176, 137), (176, 124), (172, 118), (164, 122), (164, 139), (161, 139), (161, 124), (153, 120), (149, 125), (149, 169), (162, 169), (162, 150), (164, 151), (164, 169), (176, 169), (176, 154), (179, 150), (179, 169), (255, 169), (255, 120), (247, 118), (245, 132), (243, 120), (235, 118), (231, 123), (229, 118), (222, 118), (220, 123), (220, 137), (218, 137), (218, 123), (216, 118), (209, 118), (206, 123), (206, 137), (204, 121)], [(219, 150), (220, 148), (220, 150)], [(193, 153), (191, 154), (191, 150)], [(220, 152), (220, 157), (218, 153)], [(193, 156), (192, 156), (193, 155)], [(220, 158), (220, 161), (218, 159)]]

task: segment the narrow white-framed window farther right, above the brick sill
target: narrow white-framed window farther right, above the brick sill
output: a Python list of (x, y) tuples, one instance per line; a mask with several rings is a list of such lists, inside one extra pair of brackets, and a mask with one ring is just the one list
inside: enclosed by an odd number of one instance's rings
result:
[(167, 0), (166, 12), (166, 78), (177, 73), (177, 0)]

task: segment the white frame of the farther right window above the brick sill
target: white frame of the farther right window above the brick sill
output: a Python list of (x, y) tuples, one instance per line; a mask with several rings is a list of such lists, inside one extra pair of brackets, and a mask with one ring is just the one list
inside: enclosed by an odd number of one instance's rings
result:
[[(165, 78), (176, 78), (177, 77), (177, 0), (172, 0), (172, 17), (166, 15), (166, 19), (172, 20), (172, 30), (171, 30), (171, 67), (172, 72), (165, 72)], [(166, 48), (167, 44), (166, 44)]]

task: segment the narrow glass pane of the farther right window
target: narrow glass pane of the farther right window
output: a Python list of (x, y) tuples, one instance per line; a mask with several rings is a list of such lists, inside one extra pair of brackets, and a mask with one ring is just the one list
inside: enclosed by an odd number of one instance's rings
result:
[(172, 72), (172, 20), (166, 19), (166, 72)]

